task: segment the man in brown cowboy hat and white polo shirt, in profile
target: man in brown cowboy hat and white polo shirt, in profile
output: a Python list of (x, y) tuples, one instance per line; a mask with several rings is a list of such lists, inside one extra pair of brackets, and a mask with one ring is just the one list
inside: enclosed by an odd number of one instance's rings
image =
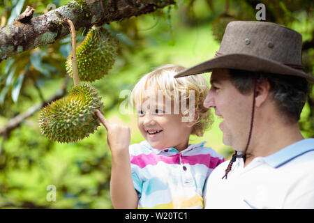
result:
[(297, 123), (314, 77), (301, 43), (285, 26), (230, 22), (215, 58), (176, 76), (212, 71), (204, 106), (235, 150), (207, 179), (205, 208), (314, 208), (314, 139)]

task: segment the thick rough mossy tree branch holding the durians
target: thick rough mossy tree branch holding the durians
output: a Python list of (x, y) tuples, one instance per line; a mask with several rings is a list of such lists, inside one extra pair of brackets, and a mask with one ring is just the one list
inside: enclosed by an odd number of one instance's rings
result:
[[(70, 1), (50, 12), (29, 20), (15, 20), (0, 28), (0, 62), (49, 43), (70, 32), (66, 20), (78, 30), (128, 17), (151, 13), (175, 3), (175, 0), (86, 0)], [(31, 13), (32, 15), (32, 13)], [(31, 16), (30, 15), (30, 16)]]

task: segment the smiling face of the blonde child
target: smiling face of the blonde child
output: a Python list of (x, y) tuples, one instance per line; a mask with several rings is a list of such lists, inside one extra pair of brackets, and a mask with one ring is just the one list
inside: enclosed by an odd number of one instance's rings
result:
[(174, 111), (173, 102), (169, 105), (165, 100), (156, 102), (155, 98), (147, 98), (137, 107), (138, 128), (151, 147), (173, 147), (178, 151), (188, 147), (193, 123), (183, 122), (182, 115)]

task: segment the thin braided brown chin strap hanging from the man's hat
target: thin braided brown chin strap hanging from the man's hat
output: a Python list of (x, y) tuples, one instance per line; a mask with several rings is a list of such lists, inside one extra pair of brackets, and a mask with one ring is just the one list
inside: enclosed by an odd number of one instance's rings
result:
[(253, 120), (254, 120), (254, 113), (255, 113), (256, 85), (257, 85), (257, 73), (255, 73), (255, 79), (254, 79), (253, 105), (252, 105), (250, 132), (248, 134), (248, 143), (246, 144), (246, 148), (244, 149), (244, 152), (241, 153), (240, 155), (237, 154), (237, 151), (234, 151), (234, 154), (231, 157), (231, 160), (228, 164), (228, 167), (227, 167), (227, 169), (225, 169), (225, 175), (223, 176), (223, 178), (225, 178), (226, 180), (227, 180), (227, 175), (231, 171), (232, 164), (237, 160), (237, 158), (244, 158), (244, 162), (246, 162), (246, 151), (248, 150), (248, 145), (250, 144), (250, 141), (251, 141), (252, 129), (253, 129)]

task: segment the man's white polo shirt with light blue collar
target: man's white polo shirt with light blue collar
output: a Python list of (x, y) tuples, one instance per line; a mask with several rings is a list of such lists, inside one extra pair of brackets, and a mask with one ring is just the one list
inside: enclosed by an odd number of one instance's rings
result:
[[(314, 139), (304, 139), (246, 167), (237, 158), (207, 179), (204, 208), (314, 208)], [(223, 179), (222, 179), (223, 178)]]

